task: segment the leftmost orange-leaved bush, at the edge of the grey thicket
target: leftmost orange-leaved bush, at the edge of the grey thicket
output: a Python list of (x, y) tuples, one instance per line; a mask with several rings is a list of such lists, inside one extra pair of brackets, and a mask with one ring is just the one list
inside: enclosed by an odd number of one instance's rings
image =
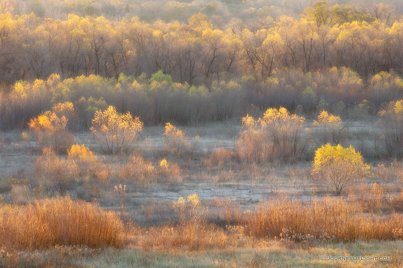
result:
[[(69, 108), (63, 108), (64, 106)], [(71, 102), (58, 103), (52, 107), (51, 111), (46, 111), (29, 121), (29, 129), (33, 132), (41, 151), (44, 147), (51, 147), (58, 153), (66, 153), (70, 148), (74, 136), (67, 131), (69, 119), (64, 114), (70, 117), (72, 108)]]

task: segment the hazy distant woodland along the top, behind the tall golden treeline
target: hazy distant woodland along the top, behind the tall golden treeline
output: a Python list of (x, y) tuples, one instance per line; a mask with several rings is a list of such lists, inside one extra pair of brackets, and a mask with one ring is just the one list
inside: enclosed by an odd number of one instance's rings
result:
[[(1, 0), (0, 13), (13, 16), (34, 13), (41, 18), (65, 20), (69, 14), (78, 16), (104, 16), (109, 20), (138, 16), (147, 22), (179, 20), (187, 23), (194, 14), (202, 12), (212, 20), (214, 27), (227, 29), (231, 23), (243, 29), (262, 29), (270, 26), (269, 17), (278, 21), (281, 15), (299, 18), (312, 0)], [(403, 12), (400, 0), (328, 0), (331, 11), (343, 19), (376, 18), (393, 21)], [(343, 4), (343, 6), (339, 6)]]

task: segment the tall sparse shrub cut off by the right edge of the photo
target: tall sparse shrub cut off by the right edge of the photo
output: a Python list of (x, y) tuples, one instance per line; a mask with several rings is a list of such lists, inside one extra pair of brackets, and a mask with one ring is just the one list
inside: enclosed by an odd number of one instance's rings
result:
[(389, 102), (379, 112), (378, 124), (381, 127), (381, 142), (389, 156), (403, 157), (403, 100)]

